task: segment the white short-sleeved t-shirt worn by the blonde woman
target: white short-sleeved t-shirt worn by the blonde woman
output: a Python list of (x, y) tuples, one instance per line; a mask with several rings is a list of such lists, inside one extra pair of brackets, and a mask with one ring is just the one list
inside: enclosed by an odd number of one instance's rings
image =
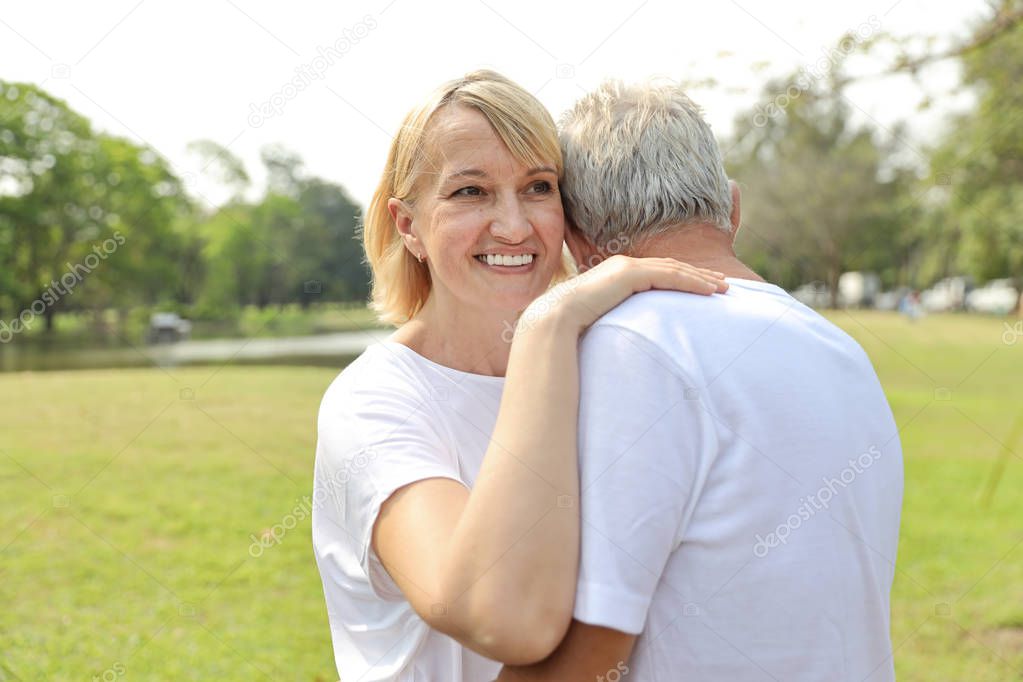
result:
[(394, 342), (333, 380), (318, 417), (313, 549), (344, 682), (489, 682), (500, 664), (432, 630), (373, 553), (381, 505), (424, 479), (471, 488), (504, 379), (438, 365)]

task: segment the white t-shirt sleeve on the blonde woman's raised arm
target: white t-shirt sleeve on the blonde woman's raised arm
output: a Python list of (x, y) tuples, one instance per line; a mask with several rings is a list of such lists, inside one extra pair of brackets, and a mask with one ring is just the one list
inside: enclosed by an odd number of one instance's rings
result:
[(318, 419), (320, 489), (337, 505), (339, 542), (353, 553), (382, 598), (403, 598), (372, 550), (381, 505), (426, 479), (464, 484), (457, 457), (431, 417), (429, 395), (409, 389), (359, 388), (324, 400)]

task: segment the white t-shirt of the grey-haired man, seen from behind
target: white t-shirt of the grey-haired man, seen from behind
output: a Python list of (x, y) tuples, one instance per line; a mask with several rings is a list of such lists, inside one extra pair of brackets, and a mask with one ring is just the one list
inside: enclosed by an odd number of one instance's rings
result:
[(870, 360), (767, 283), (640, 293), (580, 350), (575, 618), (630, 682), (892, 680), (898, 430)]

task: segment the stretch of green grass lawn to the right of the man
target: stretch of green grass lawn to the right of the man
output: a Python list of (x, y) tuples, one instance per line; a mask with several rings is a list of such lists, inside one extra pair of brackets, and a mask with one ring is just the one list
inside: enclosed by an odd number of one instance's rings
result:
[(1023, 679), (1023, 335), (983, 317), (831, 318), (873, 359), (901, 429), (899, 679)]

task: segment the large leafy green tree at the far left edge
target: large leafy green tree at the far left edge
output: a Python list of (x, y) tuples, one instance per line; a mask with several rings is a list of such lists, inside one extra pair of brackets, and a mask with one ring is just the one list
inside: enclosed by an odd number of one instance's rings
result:
[(189, 211), (168, 164), (33, 85), (0, 81), (0, 309), (51, 330), (60, 310), (166, 298)]

